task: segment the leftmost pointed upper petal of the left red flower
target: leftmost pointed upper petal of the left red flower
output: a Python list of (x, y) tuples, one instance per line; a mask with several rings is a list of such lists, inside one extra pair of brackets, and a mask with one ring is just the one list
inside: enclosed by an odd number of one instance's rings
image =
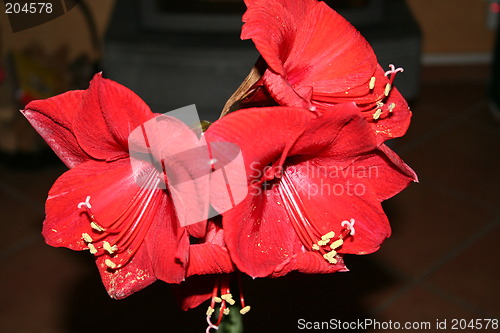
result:
[(74, 118), (82, 107), (83, 94), (83, 90), (75, 90), (33, 101), (21, 111), (69, 168), (89, 159), (73, 133)]

